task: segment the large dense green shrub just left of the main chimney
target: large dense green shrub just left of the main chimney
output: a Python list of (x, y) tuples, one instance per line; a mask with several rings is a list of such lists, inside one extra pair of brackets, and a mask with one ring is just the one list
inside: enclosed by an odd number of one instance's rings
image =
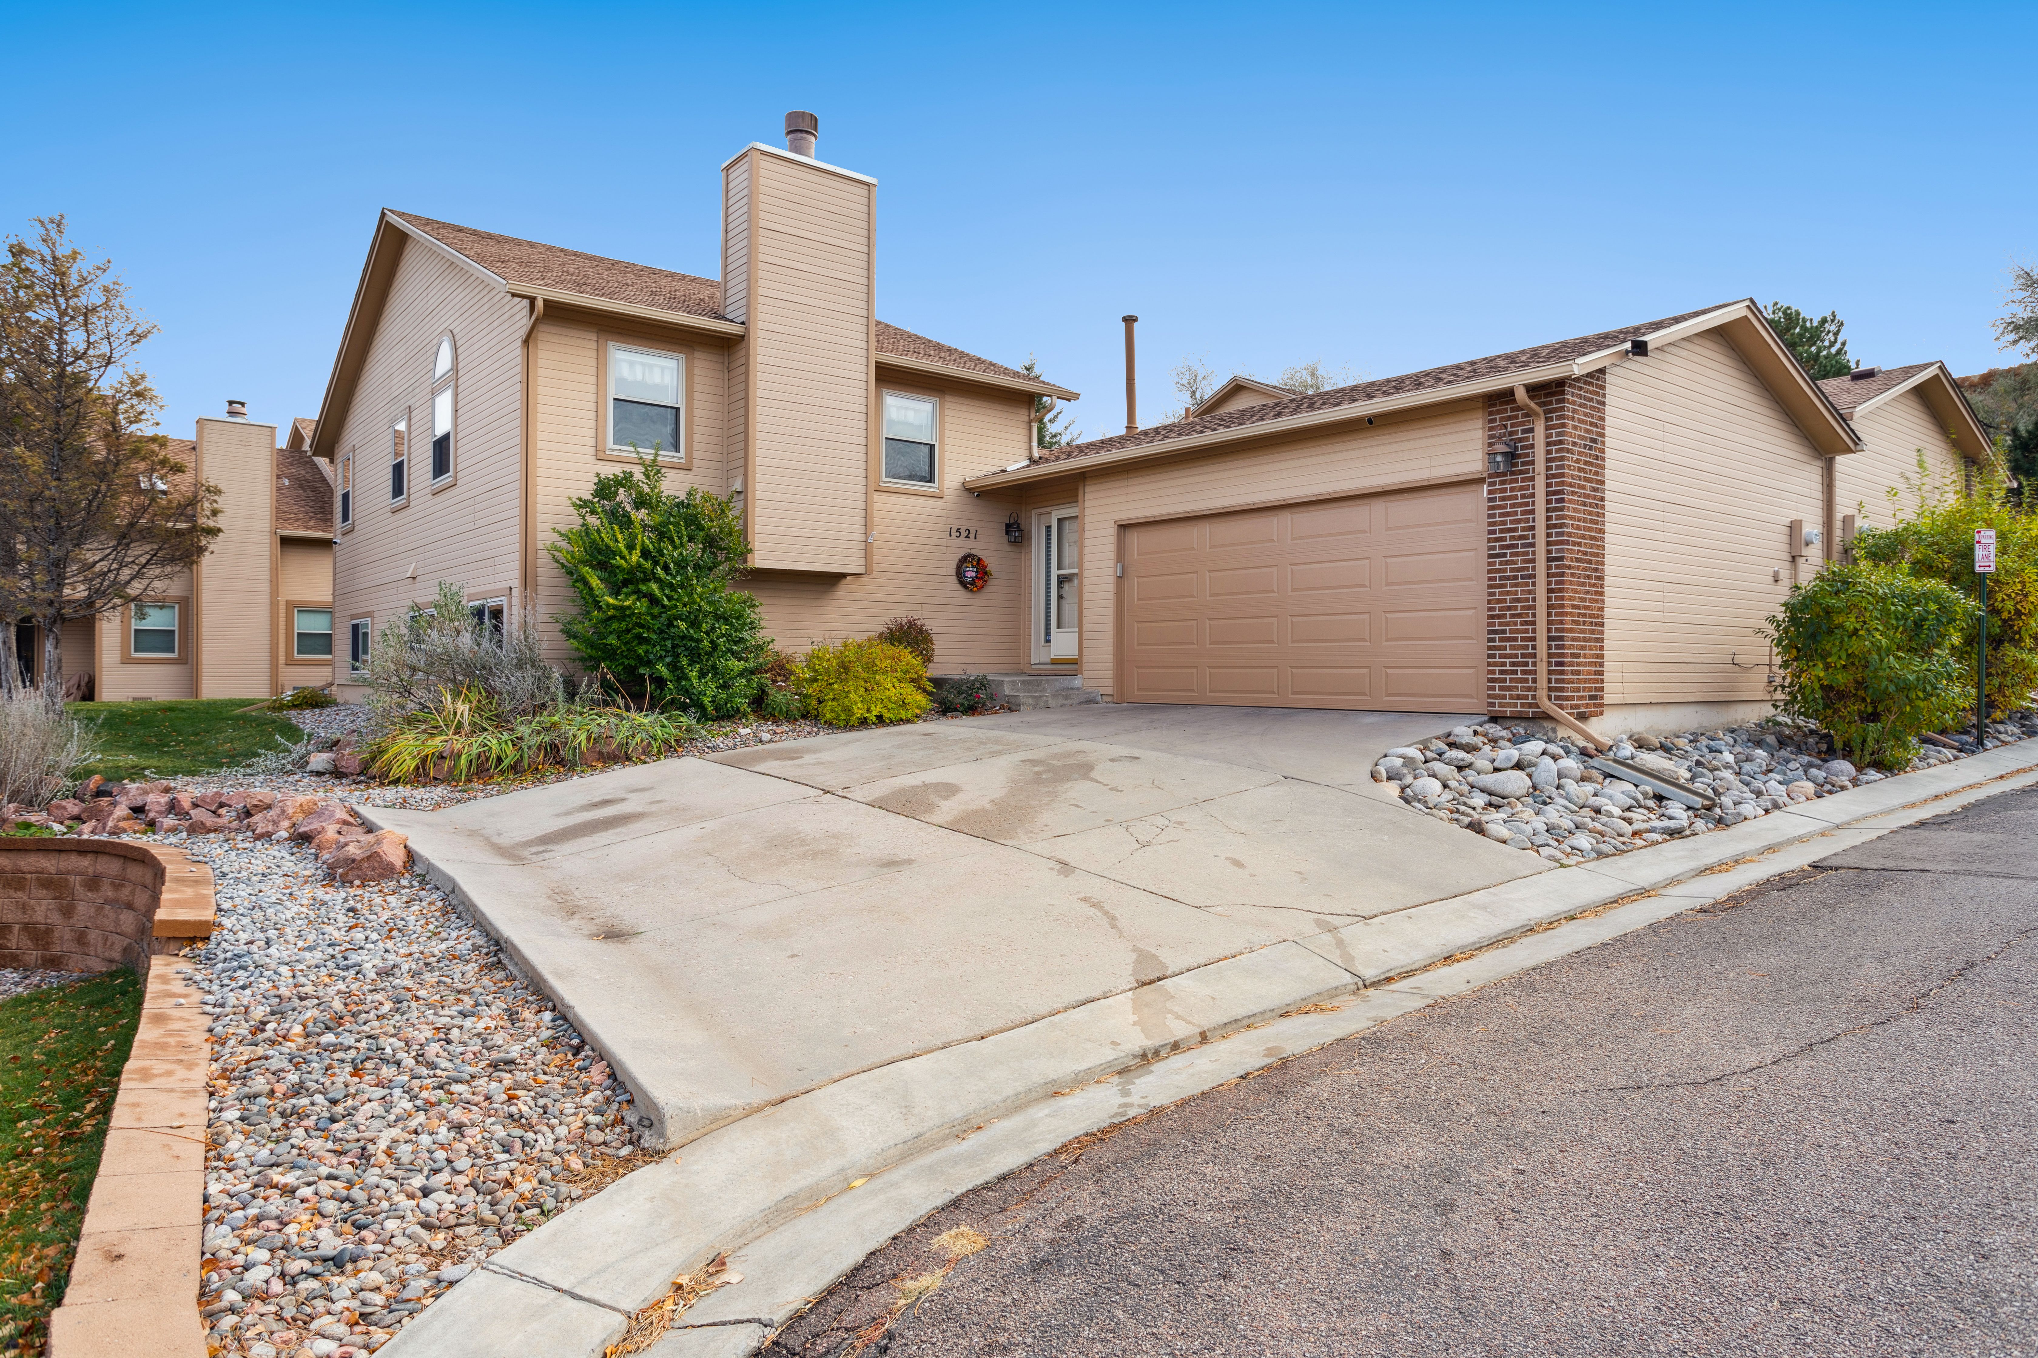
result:
[(732, 588), (750, 544), (730, 503), (699, 487), (666, 495), (646, 458), (597, 476), (573, 511), (579, 525), (554, 529), (546, 552), (579, 599), (558, 625), (587, 670), (636, 706), (750, 711), (770, 641), (758, 601)]

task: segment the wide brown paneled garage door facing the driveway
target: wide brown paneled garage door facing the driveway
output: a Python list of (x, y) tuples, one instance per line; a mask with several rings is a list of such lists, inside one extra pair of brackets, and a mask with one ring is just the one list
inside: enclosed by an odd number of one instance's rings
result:
[(1486, 711), (1480, 483), (1125, 535), (1123, 700)]

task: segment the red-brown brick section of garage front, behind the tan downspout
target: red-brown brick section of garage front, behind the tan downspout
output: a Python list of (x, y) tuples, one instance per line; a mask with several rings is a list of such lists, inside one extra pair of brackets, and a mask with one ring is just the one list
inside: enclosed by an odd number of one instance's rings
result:
[[(1606, 711), (1606, 375), (1528, 389), (1549, 456), (1549, 696), (1575, 717)], [(1486, 478), (1486, 706), (1537, 717), (1535, 426), (1514, 393), (1486, 397), (1486, 448), (1516, 440)]]

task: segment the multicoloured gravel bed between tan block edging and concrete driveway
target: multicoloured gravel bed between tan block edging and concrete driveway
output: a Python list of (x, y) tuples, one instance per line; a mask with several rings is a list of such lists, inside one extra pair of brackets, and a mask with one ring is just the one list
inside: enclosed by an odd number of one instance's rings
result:
[[(328, 784), (332, 780), (326, 780)], [(351, 1358), (554, 1211), (648, 1163), (630, 1095), (422, 875), (181, 839), (218, 930), (200, 1309), (214, 1352)]]

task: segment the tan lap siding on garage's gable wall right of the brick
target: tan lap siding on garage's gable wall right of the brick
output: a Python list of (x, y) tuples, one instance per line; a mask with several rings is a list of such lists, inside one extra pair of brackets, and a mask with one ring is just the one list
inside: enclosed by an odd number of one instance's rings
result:
[(1822, 513), (1818, 450), (1724, 338), (1610, 369), (1606, 702), (1763, 700), (1789, 521)]

